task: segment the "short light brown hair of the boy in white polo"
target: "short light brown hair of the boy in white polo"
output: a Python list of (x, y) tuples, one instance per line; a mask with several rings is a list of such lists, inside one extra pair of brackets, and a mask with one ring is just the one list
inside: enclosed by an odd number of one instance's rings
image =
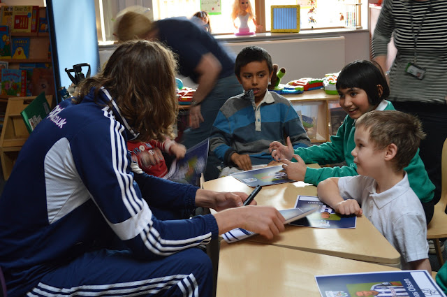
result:
[(418, 151), (420, 140), (425, 138), (422, 124), (413, 115), (397, 110), (372, 110), (356, 120), (359, 127), (369, 131), (369, 140), (377, 150), (394, 143), (397, 146), (395, 169), (402, 170), (410, 164)]

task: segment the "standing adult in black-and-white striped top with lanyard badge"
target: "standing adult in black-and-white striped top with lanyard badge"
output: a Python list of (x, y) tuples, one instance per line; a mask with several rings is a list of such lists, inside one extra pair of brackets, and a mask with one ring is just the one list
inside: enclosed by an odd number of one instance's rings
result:
[[(420, 158), (436, 187), (433, 203), (437, 203), (441, 150), (447, 138), (447, 1), (383, 1), (372, 37), (372, 56), (384, 71), (392, 35), (397, 55), (389, 72), (389, 100), (397, 110), (416, 115), (423, 123), (427, 138), (420, 143)], [(423, 78), (409, 73), (411, 69), (425, 71)]]

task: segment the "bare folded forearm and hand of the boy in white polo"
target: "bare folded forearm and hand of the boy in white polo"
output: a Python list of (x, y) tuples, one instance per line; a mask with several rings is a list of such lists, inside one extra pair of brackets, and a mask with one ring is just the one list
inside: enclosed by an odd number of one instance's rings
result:
[(320, 182), (316, 188), (318, 198), (341, 215), (362, 215), (363, 211), (355, 199), (344, 200), (340, 196), (338, 180), (339, 178), (328, 178)]

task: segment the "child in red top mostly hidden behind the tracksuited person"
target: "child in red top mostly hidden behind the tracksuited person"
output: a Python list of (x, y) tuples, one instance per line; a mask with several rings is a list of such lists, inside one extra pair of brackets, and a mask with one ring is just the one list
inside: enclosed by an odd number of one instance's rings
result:
[(148, 143), (128, 141), (127, 149), (131, 152), (132, 160), (138, 164), (142, 171), (159, 178), (163, 178), (168, 173), (168, 166), (166, 166), (166, 160), (161, 152), (174, 154), (177, 159), (182, 159), (186, 153), (184, 145), (169, 138), (163, 142), (159, 140), (149, 140)]

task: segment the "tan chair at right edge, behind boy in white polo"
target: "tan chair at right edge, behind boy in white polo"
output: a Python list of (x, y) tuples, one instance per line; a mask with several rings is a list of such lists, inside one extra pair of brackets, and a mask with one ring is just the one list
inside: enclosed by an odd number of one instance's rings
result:
[(447, 139), (442, 147), (441, 180), (441, 199), (434, 205), (433, 219), (427, 226), (427, 239), (432, 239), (434, 242), (439, 266), (444, 265), (439, 238), (447, 237)]

